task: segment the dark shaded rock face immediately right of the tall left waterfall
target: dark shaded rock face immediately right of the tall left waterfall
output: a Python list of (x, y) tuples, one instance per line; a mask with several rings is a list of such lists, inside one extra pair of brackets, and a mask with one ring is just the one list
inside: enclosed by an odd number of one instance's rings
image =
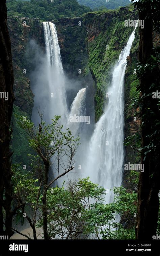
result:
[(78, 77), (78, 70), (81, 69), (81, 74), (84, 76), (89, 54), (83, 18), (63, 18), (53, 23), (57, 29), (64, 71), (70, 77)]

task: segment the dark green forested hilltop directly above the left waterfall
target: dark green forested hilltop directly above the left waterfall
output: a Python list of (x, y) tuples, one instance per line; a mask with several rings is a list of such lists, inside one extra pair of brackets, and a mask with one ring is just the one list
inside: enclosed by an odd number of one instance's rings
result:
[(83, 16), (87, 11), (90, 8), (79, 5), (76, 0), (7, 0), (8, 16), (39, 18), (43, 21)]

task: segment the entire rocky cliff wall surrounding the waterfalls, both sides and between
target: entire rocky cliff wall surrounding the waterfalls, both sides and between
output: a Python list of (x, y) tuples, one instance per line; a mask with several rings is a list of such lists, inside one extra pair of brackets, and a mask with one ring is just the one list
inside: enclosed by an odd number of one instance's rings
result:
[[(111, 80), (111, 68), (118, 59), (119, 53), (127, 44), (133, 27), (125, 27), (124, 20), (135, 19), (136, 14), (130, 7), (119, 10), (97, 11), (87, 13), (85, 19), (62, 18), (52, 21), (56, 25), (64, 72), (68, 78), (80, 81), (88, 86), (87, 97), (95, 97), (95, 120), (103, 113), (106, 102), (106, 91)], [(29, 73), (33, 68), (31, 53), (26, 54), (27, 45), (34, 39), (45, 51), (43, 25), (38, 19), (12, 17), (8, 21), (12, 45), (13, 65), (15, 73), (15, 108), (19, 115), (31, 117), (34, 95), (30, 88)], [(130, 101), (135, 92), (133, 67), (137, 61), (138, 33), (131, 54), (128, 57), (128, 67), (125, 80), (125, 135), (134, 134), (139, 129), (138, 121), (133, 121), (134, 110)], [(26, 69), (26, 74), (24, 70)], [(79, 72), (81, 71), (81, 72)], [(73, 95), (72, 98), (74, 98)], [(94, 104), (90, 102), (88, 104)], [(91, 106), (88, 106), (88, 109)], [(16, 129), (13, 137), (16, 137)], [(19, 131), (24, 136), (23, 131)], [(22, 140), (21, 138), (21, 140)], [(17, 138), (18, 139), (18, 138)], [(20, 140), (20, 138), (19, 138)], [(19, 141), (20, 152), (28, 152), (26, 140)], [(24, 145), (25, 144), (25, 145)], [(13, 139), (13, 147), (17, 151)], [(16, 154), (15, 154), (16, 155)], [(126, 149), (127, 160), (131, 159), (131, 149)], [(135, 157), (137, 155), (135, 154)], [(131, 159), (133, 160), (133, 158)]]

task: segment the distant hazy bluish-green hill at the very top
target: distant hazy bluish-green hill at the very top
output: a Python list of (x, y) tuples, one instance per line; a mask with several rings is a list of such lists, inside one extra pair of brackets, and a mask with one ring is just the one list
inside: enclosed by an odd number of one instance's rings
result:
[(79, 4), (89, 6), (91, 9), (117, 9), (120, 6), (129, 5), (131, 2), (129, 0), (77, 0)]

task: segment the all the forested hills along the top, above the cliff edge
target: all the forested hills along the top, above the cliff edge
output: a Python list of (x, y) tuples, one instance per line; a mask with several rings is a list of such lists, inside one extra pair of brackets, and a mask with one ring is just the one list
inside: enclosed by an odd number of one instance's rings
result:
[[(79, 4), (78, 4), (79, 3)], [(116, 9), (129, 5), (129, 0), (109, 2), (101, 1), (66, 1), (66, 0), (7, 0), (8, 16), (39, 18), (43, 21), (59, 19), (62, 17), (79, 17), (91, 9)]]

